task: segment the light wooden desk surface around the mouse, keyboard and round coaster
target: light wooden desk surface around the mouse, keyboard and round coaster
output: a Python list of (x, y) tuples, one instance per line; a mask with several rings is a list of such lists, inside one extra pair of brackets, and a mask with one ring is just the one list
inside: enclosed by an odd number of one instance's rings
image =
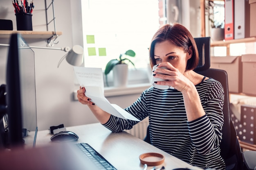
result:
[[(99, 123), (66, 127), (66, 129), (79, 136), (78, 141), (76, 141), (77, 143), (85, 142), (90, 144), (118, 170), (142, 170), (143, 165), (139, 161), (139, 155), (148, 152), (164, 155), (164, 163), (157, 167), (164, 166), (166, 170), (172, 170), (174, 168), (200, 169), (173, 157), (129, 133), (112, 133)], [(50, 142), (51, 136), (47, 130), (38, 131), (36, 148), (44, 147), (45, 145), (54, 145), (53, 142)], [(53, 153), (56, 154), (56, 152)], [(150, 168), (148, 167), (148, 170)]]

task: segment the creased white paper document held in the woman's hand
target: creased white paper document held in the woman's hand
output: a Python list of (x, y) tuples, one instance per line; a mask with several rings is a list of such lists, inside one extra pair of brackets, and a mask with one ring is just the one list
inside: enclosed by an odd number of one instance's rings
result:
[(140, 121), (130, 113), (119, 107), (111, 104), (104, 96), (104, 83), (101, 68), (85, 68), (74, 66), (76, 78), (81, 87), (85, 87), (85, 95), (91, 99), (102, 110), (123, 119)]

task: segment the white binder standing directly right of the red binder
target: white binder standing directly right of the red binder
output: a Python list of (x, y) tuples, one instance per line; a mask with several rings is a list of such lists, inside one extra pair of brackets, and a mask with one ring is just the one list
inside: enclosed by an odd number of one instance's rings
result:
[(250, 37), (249, 0), (235, 0), (234, 2), (234, 39)]

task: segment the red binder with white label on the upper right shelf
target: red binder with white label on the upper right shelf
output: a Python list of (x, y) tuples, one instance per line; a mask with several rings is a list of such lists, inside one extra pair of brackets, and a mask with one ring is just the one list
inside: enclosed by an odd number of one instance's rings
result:
[(225, 40), (234, 39), (234, 0), (225, 0)]

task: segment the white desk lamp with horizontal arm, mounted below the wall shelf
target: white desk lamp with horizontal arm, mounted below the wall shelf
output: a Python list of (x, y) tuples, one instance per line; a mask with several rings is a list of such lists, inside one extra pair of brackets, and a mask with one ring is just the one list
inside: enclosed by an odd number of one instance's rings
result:
[[(0, 44), (0, 46), (9, 46), (9, 44)], [(51, 48), (51, 47), (36, 47), (36, 46), (29, 46), (30, 48), (40, 48), (40, 49), (50, 49), (50, 50), (62, 50), (67, 52), (61, 60), (58, 62), (58, 66), (61, 62), (66, 59), (67, 63), (80, 66), (83, 63), (83, 47), (79, 45), (74, 45), (71, 49), (70, 47), (65, 48)]]

